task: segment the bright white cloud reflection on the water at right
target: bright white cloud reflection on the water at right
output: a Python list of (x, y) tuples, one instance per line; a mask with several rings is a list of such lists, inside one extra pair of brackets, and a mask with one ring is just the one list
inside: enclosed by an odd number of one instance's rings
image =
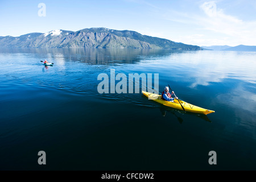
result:
[(161, 72), (162, 77), (188, 81), (192, 89), (223, 82), (226, 78), (256, 83), (256, 52), (176, 51), (150, 61), (143, 59), (141, 65)]

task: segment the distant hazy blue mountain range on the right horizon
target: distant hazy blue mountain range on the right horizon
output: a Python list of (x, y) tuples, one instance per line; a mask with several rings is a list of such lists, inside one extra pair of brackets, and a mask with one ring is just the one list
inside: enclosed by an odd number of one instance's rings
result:
[(245, 46), (245, 45), (239, 45), (235, 47), (231, 46), (201, 46), (204, 49), (210, 49), (214, 51), (256, 51), (256, 46)]

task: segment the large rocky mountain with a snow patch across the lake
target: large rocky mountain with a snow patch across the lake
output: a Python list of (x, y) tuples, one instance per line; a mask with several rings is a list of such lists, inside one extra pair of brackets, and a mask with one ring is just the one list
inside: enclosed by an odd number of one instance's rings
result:
[(129, 30), (85, 28), (79, 31), (53, 30), (19, 37), (0, 36), (0, 47), (7, 48), (139, 48), (201, 50), (199, 46), (142, 35)]

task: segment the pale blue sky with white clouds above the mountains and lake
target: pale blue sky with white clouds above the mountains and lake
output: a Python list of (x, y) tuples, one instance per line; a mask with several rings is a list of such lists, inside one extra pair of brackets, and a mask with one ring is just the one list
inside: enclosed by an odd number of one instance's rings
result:
[(0, 36), (92, 27), (133, 30), (197, 46), (256, 46), (256, 1), (0, 1)]

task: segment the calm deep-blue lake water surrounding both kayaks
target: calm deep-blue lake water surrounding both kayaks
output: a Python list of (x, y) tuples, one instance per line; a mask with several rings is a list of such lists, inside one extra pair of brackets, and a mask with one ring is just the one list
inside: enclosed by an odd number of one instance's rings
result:
[[(256, 169), (256, 52), (0, 49), (0, 63), (2, 170)], [(216, 113), (99, 94), (110, 69), (159, 73), (161, 92)]]

